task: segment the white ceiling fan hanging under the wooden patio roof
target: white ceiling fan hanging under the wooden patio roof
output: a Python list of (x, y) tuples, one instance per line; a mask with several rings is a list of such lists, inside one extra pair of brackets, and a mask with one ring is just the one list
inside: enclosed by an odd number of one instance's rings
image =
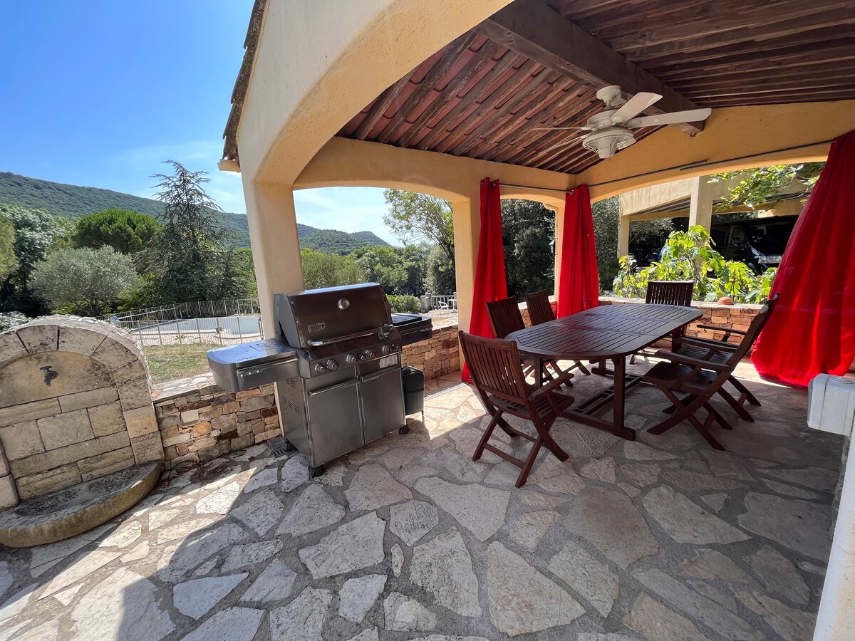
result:
[(644, 115), (636, 118), (642, 111), (650, 107), (657, 100), (662, 99), (657, 93), (640, 91), (629, 100), (622, 98), (621, 88), (617, 85), (609, 85), (597, 91), (597, 97), (605, 103), (608, 109), (588, 118), (585, 126), (539, 126), (534, 130), (560, 131), (563, 129), (579, 129), (586, 133), (579, 138), (566, 140), (563, 143), (554, 144), (550, 148), (540, 152), (541, 156), (547, 151), (573, 144), (578, 140), (582, 146), (591, 150), (600, 158), (610, 158), (616, 152), (626, 149), (635, 143), (633, 129), (642, 126), (675, 125), (681, 122), (705, 121), (712, 109), (689, 109), (688, 111), (675, 111), (670, 114)]

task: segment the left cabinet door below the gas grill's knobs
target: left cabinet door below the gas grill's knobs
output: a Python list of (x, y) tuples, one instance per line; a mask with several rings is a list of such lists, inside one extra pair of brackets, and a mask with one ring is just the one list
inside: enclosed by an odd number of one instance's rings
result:
[(363, 446), (358, 379), (307, 391), (313, 467)]

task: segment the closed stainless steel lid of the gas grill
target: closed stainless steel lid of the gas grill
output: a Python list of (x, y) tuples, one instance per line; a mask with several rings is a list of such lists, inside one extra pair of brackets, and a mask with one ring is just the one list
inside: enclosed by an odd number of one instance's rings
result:
[(392, 324), (386, 293), (377, 283), (276, 294), (274, 315), (280, 335), (299, 348), (379, 332)]

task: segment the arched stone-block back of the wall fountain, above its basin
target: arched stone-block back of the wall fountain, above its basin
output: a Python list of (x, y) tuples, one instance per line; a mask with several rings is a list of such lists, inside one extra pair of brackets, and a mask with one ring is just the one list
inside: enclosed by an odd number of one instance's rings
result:
[(162, 458), (148, 368), (125, 332), (56, 315), (0, 334), (0, 507)]

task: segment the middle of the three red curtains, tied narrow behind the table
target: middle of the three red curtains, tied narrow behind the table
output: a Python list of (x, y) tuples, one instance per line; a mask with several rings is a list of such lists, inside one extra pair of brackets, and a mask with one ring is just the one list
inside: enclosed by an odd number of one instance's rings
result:
[(597, 250), (593, 242), (593, 215), (587, 185), (579, 185), (564, 197), (562, 234), (559, 318), (599, 304)]

